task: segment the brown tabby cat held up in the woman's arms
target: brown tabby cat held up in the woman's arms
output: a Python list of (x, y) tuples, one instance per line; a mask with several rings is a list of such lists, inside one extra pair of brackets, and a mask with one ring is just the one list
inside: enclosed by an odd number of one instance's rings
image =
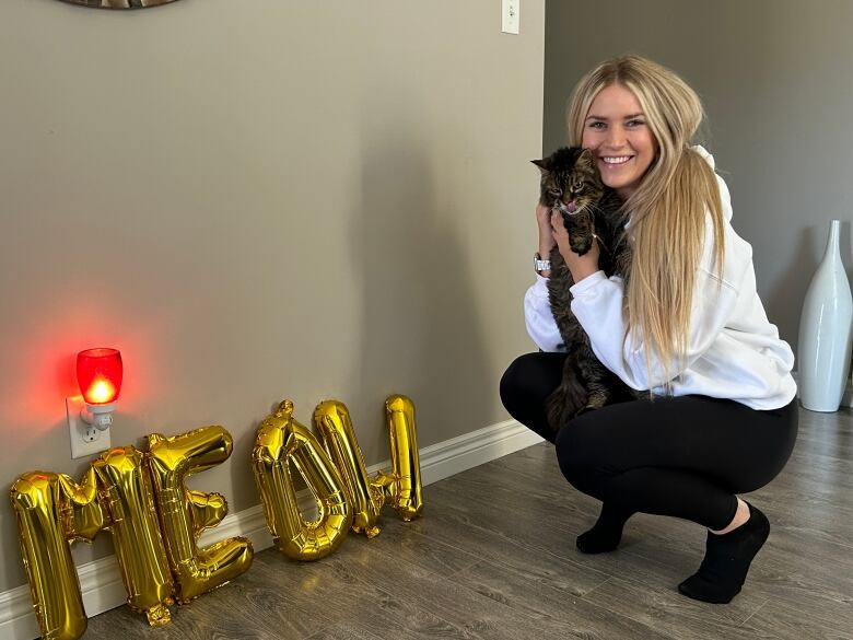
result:
[[(621, 201), (616, 191), (601, 183), (592, 152), (564, 147), (533, 163), (542, 174), (539, 201), (562, 213), (572, 251), (584, 255), (598, 242), (598, 265), (605, 274), (626, 274), (631, 251), (624, 237)], [(572, 313), (569, 288), (574, 280), (557, 246), (551, 249), (550, 260), (548, 299), (570, 354), (563, 366), (562, 383), (548, 398), (548, 421), (559, 430), (584, 411), (633, 396), (595, 357), (589, 338)]]

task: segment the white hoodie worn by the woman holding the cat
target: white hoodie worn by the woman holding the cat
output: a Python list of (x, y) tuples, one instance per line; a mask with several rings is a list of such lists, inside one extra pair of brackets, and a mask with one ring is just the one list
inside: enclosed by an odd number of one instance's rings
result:
[[(693, 148), (711, 167), (714, 159)], [(601, 363), (635, 389), (664, 394), (669, 371), (673, 395), (704, 395), (737, 400), (753, 409), (778, 409), (796, 395), (791, 376), (794, 353), (767, 318), (756, 291), (752, 247), (732, 229), (732, 198), (717, 176), (723, 202), (725, 259), (722, 280), (714, 261), (714, 230), (709, 213), (699, 272), (696, 277), (687, 358), (665, 368), (655, 354), (651, 375), (645, 344), (634, 329), (626, 336), (622, 278), (598, 271), (572, 292), (572, 312), (589, 336)], [(524, 298), (527, 333), (544, 351), (562, 349), (562, 338), (548, 302), (548, 279), (537, 276)]]

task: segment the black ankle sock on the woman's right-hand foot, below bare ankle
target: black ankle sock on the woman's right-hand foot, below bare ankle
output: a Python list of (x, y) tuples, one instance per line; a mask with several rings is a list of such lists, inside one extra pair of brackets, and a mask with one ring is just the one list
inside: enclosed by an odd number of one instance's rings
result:
[(705, 557), (699, 571), (678, 585), (678, 591), (693, 600), (725, 604), (739, 592), (749, 563), (767, 540), (770, 523), (767, 516), (747, 502), (749, 520), (724, 535), (708, 533)]

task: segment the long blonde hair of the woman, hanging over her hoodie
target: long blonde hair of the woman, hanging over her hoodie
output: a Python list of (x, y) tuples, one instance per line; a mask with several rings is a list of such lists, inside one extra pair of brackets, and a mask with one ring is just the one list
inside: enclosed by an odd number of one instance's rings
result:
[(657, 142), (656, 158), (622, 205), (630, 216), (633, 248), (624, 275), (624, 314), (635, 342), (644, 342), (650, 379), (654, 352), (664, 364), (664, 386), (669, 391), (674, 372), (668, 363), (675, 360), (680, 370), (689, 346), (693, 284), (709, 211), (717, 275), (722, 271), (723, 206), (714, 171), (690, 149), (704, 116), (699, 96), (675, 72), (646, 58), (607, 60), (581, 79), (569, 104), (570, 143), (581, 146), (589, 106), (612, 84), (634, 94)]

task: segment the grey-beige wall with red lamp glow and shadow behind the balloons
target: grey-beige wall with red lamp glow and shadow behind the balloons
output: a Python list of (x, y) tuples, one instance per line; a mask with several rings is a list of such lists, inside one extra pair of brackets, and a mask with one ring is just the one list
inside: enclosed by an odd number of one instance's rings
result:
[[(367, 464), (389, 393), (421, 446), (505, 420), (544, 12), (510, 36), (494, 0), (0, 3), (0, 485), (85, 467), (63, 397), (92, 346), (125, 357), (115, 445), (231, 431), (192, 484), (232, 511), (258, 503), (255, 427), (284, 397), (303, 422), (347, 403)], [(0, 592), (23, 584), (7, 499), (0, 559)]]

